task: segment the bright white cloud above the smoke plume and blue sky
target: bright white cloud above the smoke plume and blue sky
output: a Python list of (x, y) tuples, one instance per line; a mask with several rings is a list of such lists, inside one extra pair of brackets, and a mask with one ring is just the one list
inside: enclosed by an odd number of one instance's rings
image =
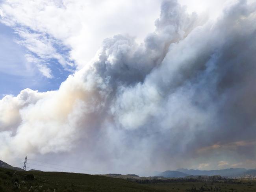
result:
[(154, 20), (159, 14), (156, 7), (160, 2), (37, 0), (3, 2), (0, 8), (6, 15), (2, 22), (17, 28), (30, 51), (46, 58), (61, 57), (52, 44), (58, 39), (71, 48), (70, 59), (82, 68), (106, 37), (129, 33), (142, 41), (148, 31), (154, 29)]

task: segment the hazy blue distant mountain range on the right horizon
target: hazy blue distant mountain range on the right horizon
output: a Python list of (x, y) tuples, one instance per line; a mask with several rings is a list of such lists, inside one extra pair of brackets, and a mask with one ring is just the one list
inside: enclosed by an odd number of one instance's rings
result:
[(256, 177), (256, 170), (247, 170), (245, 168), (229, 168), (222, 170), (194, 170), (194, 169), (177, 169), (175, 171), (165, 171), (162, 173), (158, 173), (155, 176), (162, 177), (187, 177), (190, 175), (220, 175), (222, 177), (247, 177), (254, 178)]

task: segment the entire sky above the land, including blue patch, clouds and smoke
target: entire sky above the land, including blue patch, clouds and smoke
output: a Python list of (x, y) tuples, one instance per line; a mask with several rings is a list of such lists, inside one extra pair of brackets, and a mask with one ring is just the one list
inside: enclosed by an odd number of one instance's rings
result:
[(0, 1), (0, 159), (255, 168), (255, 19), (253, 0)]

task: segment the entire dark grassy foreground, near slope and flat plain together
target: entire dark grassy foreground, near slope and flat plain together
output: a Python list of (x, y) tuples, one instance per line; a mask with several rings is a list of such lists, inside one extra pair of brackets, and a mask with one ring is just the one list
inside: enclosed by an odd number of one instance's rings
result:
[(24, 172), (0, 168), (0, 192), (256, 192), (255, 180), (237, 183), (171, 182), (139, 184), (100, 175)]

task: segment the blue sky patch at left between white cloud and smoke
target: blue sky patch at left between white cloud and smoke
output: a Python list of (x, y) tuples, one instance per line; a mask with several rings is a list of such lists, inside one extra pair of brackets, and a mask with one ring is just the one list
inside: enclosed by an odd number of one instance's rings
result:
[[(50, 68), (53, 78), (46, 78), (35, 63), (27, 61), (26, 55), (33, 55), (35, 59), (41, 58), (28, 51), (25, 46), (17, 44), (15, 39), (19, 38), (11, 27), (0, 23), (0, 98), (6, 94), (17, 95), (26, 88), (40, 92), (56, 90), (75, 70), (75, 66), (66, 66), (64, 69), (57, 59), (47, 59), (43, 64)], [(54, 48), (67, 58), (68, 48), (60, 44), (54, 44)]]

